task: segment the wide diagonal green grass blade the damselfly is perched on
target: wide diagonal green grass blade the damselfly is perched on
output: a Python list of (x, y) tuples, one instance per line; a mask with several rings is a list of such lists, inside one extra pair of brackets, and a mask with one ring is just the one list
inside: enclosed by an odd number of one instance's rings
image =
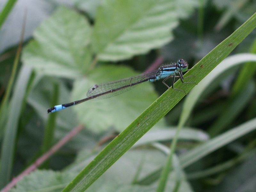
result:
[[(255, 27), (256, 13), (189, 70), (185, 74), (185, 77), (194, 75), (189, 78), (189, 81), (199, 83), (213, 68), (226, 58)], [(195, 84), (182, 84), (180, 80), (175, 83), (176, 88), (182, 89), (185, 92), (189, 92), (194, 86)], [(184, 92), (173, 89), (164, 92), (162, 96), (152, 103), (123, 132), (109, 143), (108, 146), (106, 146), (106, 148), (104, 148), (94, 160), (63, 189), (63, 191), (84, 191), (88, 188), (184, 96)]]

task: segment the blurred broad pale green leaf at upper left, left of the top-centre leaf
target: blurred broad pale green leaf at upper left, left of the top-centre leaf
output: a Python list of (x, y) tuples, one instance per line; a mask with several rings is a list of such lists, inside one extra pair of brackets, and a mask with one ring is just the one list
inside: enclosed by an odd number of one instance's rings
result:
[(77, 12), (60, 7), (34, 32), (22, 60), (38, 73), (68, 78), (81, 77), (91, 62), (91, 28)]

